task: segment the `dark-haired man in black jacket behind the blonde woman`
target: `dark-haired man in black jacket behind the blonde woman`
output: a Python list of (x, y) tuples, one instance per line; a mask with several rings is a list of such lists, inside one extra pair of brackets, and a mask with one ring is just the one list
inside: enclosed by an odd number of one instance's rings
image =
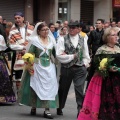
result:
[(104, 25), (104, 20), (97, 19), (96, 30), (91, 31), (90, 35), (88, 37), (88, 47), (89, 47), (89, 50), (91, 51), (91, 57), (92, 57), (91, 67), (89, 69), (89, 74), (87, 77), (88, 84), (89, 84), (89, 82), (94, 74), (94, 70), (95, 70), (94, 62), (93, 62), (94, 55), (95, 55), (97, 49), (104, 44), (103, 39), (102, 39), (102, 36), (104, 34), (103, 25)]

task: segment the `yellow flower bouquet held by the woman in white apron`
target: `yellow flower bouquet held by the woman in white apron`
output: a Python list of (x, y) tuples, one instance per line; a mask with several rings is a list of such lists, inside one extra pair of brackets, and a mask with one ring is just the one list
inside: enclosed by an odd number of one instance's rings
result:
[(34, 64), (35, 55), (31, 53), (25, 53), (22, 56), (22, 59), (25, 62), (25, 69), (27, 69), (29, 73), (33, 75), (34, 74), (33, 64)]

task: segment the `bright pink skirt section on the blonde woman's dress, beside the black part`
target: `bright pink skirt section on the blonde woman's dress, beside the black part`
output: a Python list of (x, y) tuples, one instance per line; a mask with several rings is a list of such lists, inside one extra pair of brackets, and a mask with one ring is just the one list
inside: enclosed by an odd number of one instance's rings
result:
[(80, 110), (78, 120), (98, 120), (101, 103), (102, 77), (95, 75), (88, 86), (83, 107)]

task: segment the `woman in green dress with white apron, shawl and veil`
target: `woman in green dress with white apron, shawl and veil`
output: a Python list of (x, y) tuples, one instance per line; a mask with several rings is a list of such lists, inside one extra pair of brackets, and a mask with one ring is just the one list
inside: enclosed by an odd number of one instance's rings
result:
[(36, 108), (45, 108), (44, 117), (53, 119), (49, 108), (57, 108), (58, 84), (53, 51), (55, 39), (48, 26), (39, 22), (30, 36), (31, 43), (28, 52), (35, 55), (34, 74), (25, 70), (20, 90), (20, 103), (32, 106), (31, 115), (36, 114)]

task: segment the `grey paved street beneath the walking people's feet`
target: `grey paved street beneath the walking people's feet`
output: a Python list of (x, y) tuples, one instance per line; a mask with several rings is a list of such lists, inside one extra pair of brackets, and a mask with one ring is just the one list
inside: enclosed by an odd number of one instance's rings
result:
[[(30, 115), (30, 107), (0, 104), (0, 120), (47, 120), (43, 118), (44, 109), (37, 109), (37, 115)], [(51, 109), (54, 120), (76, 120), (77, 108), (73, 84), (71, 86), (66, 107), (63, 109), (63, 116), (56, 115), (56, 109)]]

